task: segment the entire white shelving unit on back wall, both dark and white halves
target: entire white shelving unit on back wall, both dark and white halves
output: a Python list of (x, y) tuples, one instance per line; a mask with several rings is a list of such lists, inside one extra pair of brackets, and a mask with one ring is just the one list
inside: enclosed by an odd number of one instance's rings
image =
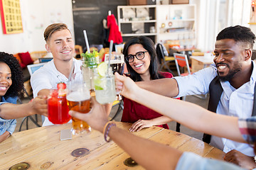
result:
[(195, 4), (117, 6), (117, 17), (124, 40), (146, 35), (154, 42), (179, 40), (182, 46), (196, 46)]

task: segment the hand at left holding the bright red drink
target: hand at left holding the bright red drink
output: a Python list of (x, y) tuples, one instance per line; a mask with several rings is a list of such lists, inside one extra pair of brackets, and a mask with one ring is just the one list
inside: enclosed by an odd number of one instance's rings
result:
[(48, 117), (48, 106), (46, 96), (37, 96), (28, 103), (31, 105), (31, 114), (40, 114)]

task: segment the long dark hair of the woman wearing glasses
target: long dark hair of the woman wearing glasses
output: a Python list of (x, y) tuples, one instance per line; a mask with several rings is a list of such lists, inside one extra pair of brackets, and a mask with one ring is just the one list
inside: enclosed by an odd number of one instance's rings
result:
[[(150, 73), (150, 79), (162, 79), (164, 78), (160, 73), (159, 73), (159, 60), (156, 56), (156, 49), (154, 47), (154, 42), (145, 36), (139, 36), (139, 37), (133, 37), (130, 38), (129, 40), (127, 40), (127, 42), (125, 42), (124, 44), (124, 49), (123, 49), (123, 54), (124, 57), (127, 57), (128, 55), (128, 48), (131, 45), (135, 45), (135, 44), (140, 44), (144, 47), (145, 50), (147, 50), (149, 52), (151, 61), (150, 61), (150, 65), (149, 65), (149, 73)], [(130, 74), (130, 77), (133, 81), (142, 81), (142, 77), (140, 77), (140, 75), (134, 71), (134, 69), (132, 69), (132, 67), (130, 66), (129, 62), (127, 62), (126, 60), (125, 64), (127, 64), (127, 70)]]

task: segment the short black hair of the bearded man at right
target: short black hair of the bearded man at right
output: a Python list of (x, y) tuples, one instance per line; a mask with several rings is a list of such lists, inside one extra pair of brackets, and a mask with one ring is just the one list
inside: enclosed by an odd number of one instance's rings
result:
[(255, 34), (250, 28), (244, 26), (230, 26), (218, 33), (216, 40), (232, 39), (235, 42), (242, 42), (244, 45), (249, 45), (252, 49), (255, 42)]

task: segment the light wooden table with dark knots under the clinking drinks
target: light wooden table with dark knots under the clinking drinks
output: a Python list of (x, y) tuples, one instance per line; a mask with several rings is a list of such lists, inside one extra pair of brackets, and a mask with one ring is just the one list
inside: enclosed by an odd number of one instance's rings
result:
[[(117, 126), (124, 130), (128, 130), (131, 125), (117, 122)], [(96, 130), (87, 135), (73, 135), (72, 140), (60, 141), (60, 130), (70, 128), (68, 123), (14, 133), (0, 143), (0, 169), (9, 169), (21, 162), (28, 163), (29, 169), (143, 169), (139, 165), (124, 165), (129, 155), (114, 142), (105, 142), (103, 135)], [(134, 135), (202, 157), (223, 159), (224, 156), (220, 149), (172, 130), (152, 127), (134, 132)], [(78, 148), (86, 148), (89, 152), (74, 157), (72, 153)], [(82, 151), (80, 153), (84, 154)]]

